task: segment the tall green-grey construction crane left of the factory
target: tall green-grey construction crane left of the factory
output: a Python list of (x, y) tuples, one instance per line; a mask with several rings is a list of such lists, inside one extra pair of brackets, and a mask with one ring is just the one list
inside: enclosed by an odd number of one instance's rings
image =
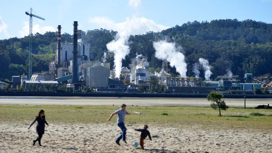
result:
[[(42, 18), (40, 16), (34, 15), (32, 14), (32, 8), (30, 8), (30, 11), (25, 12), (26, 15), (29, 15), (29, 61), (28, 61), (28, 80), (31, 79), (32, 77), (32, 16), (38, 18), (38, 19), (42, 19), (45, 20), (45, 18)], [(33, 11), (34, 12), (34, 11)]]

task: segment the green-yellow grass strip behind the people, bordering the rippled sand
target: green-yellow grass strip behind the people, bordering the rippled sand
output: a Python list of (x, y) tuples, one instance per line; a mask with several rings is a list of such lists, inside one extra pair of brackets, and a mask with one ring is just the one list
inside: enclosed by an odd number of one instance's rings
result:
[[(0, 122), (31, 123), (40, 109), (45, 110), (49, 123), (105, 123), (119, 106), (73, 106), (73, 105), (0, 105)], [(131, 112), (126, 122), (147, 123), (161, 126), (194, 126), (210, 129), (272, 131), (272, 110), (229, 108), (219, 111), (209, 107), (186, 106), (128, 106)], [(134, 111), (142, 114), (133, 113)], [(116, 116), (110, 123), (116, 122)]]

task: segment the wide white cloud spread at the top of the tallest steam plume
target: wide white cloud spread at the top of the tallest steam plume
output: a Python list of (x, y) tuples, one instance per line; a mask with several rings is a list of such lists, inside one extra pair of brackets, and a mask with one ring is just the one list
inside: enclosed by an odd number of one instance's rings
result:
[(126, 18), (124, 22), (120, 23), (115, 23), (105, 17), (90, 17), (89, 22), (97, 24), (100, 28), (118, 31), (120, 35), (138, 35), (149, 31), (160, 32), (169, 28), (144, 17)]

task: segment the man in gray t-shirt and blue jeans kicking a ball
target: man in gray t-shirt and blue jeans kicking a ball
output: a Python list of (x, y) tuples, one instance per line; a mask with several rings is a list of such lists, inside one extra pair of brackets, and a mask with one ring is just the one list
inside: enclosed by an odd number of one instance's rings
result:
[(111, 116), (108, 118), (108, 121), (110, 121), (113, 117), (113, 115), (117, 114), (117, 126), (120, 127), (120, 129), (122, 130), (122, 134), (116, 139), (116, 143), (120, 145), (119, 141), (123, 138), (123, 141), (125, 143), (127, 143), (125, 141), (125, 134), (126, 134), (126, 127), (125, 127), (125, 115), (130, 115), (130, 113), (128, 113), (126, 110), (126, 105), (122, 104), (121, 105), (121, 109), (115, 111), (114, 113), (111, 114)]

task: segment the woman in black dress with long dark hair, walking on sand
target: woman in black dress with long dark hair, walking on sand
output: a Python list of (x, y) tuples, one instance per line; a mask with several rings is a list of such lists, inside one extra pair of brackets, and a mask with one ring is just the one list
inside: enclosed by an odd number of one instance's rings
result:
[(45, 111), (44, 110), (40, 110), (39, 115), (36, 116), (36, 119), (33, 121), (33, 123), (31, 125), (29, 125), (28, 130), (30, 129), (30, 127), (35, 123), (38, 122), (37, 126), (36, 126), (36, 133), (38, 134), (38, 138), (36, 140), (33, 140), (33, 146), (35, 145), (36, 141), (39, 142), (39, 145), (42, 146), (40, 144), (40, 139), (42, 138), (42, 135), (45, 133), (45, 124), (47, 126), (48, 123), (45, 120)]

